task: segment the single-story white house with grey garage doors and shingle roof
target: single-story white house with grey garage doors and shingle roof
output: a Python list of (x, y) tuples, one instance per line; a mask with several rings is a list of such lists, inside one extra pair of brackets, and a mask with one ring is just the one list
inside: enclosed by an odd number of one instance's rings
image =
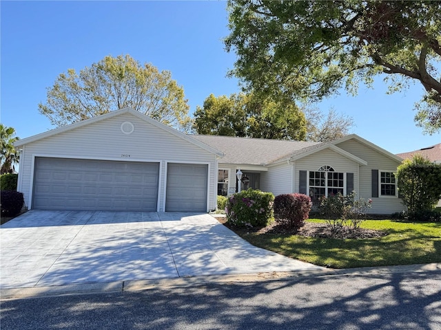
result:
[(186, 135), (130, 108), (14, 144), (17, 190), (45, 210), (208, 212), (216, 195), (258, 188), (313, 199), (355, 190), (371, 213), (400, 212), (402, 159), (357, 135), (329, 143)]

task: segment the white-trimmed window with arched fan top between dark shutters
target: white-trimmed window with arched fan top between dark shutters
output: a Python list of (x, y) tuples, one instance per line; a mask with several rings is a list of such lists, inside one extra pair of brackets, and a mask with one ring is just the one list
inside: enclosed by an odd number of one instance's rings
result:
[(345, 195), (345, 173), (336, 172), (331, 166), (309, 171), (309, 197), (313, 201), (322, 196)]

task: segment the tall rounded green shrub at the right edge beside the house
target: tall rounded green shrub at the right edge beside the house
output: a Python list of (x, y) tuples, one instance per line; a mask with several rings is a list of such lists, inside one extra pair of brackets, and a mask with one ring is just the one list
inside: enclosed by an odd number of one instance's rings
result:
[(422, 155), (405, 159), (397, 168), (398, 190), (410, 213), (432, 210), (441, 199), (441, 165)]

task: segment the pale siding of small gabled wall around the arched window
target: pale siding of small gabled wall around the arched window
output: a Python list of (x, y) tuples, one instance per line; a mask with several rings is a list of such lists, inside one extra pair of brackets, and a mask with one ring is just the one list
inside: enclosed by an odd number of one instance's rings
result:
[[(322, 166), (331, 166), (336, 172), (339, 173), (353, 173), (353, 189), (357, 191), (358, 187), (358, 163), (353, 160), (332, 151), (331, 149), (325, 149), (318, 151), (312, 155), (296, 160), (296, 177), (295, 177), (295, 192), (299, 192), (299, 171), (310, 170), (315, 171)], [(346, 181), (345, 181), (346, 184)], [(345, 187), (346, 188), (346, 187)], [(348, 193), (348, 192), (347, 192)], [(362, 196), (361, 196), (362, 197)]]

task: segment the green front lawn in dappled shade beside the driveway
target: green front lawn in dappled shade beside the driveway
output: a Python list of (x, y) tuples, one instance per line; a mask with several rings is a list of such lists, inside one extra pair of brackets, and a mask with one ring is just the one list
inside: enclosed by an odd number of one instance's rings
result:
[(382, 230), (387, 232), (387, 236), (376, 239), (322, 239), (295, 234), (236, 232), (252, 245), (331, 268), (441, 262), (441, 223), (367, 220), (362, 223), (362, 228)]

